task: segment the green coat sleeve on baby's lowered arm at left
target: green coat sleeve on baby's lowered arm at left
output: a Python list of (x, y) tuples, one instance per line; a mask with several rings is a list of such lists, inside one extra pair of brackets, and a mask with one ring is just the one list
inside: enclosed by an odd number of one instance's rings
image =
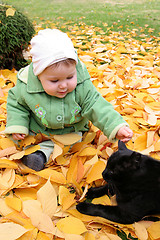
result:
[(17, 86), (8, 92), (5, 134), (21, 133), (28, 135), (29, 133), (30, 112), (25, 104), (18, 101), (20, 92), (21, 90)]

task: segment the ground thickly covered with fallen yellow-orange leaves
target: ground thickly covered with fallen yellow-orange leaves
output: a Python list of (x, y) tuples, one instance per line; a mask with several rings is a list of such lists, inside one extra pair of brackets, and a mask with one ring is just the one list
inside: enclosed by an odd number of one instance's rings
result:
[[(83, 22), (48, 24), (68, 33), (93, 84), (129, 123), (134, 136), (128, 148), (160, 160), (160, 38), (142, 35), (136, 40), (136, 28), (104, 32)], [(41, 28), (36, 25), (37, 31)], [(0, 71), (0, 239), (160, 239), (160, 220), (122, 225), (75, 209), (89, 187), (104, 183), (101, 172), (117, 149), (117, 143), (109, 143), (96, 127), (91, 125), (76, 144), (75, 134), (51, 136), (53, 155), (40, 172), (21, 163), (20, 158), (39, 149), (37, 143), (46, 136), (29, 136), (17, 146), (3, 135), (7, 93), (15, 83), (14, 69)], [(35, 146), (23, 150), (31, 144)], [(112, 204), (106, 196), (93, 202)]]

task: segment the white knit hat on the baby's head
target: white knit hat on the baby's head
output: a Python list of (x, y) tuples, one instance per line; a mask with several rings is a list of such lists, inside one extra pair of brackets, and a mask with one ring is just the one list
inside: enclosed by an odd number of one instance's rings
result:
[(40, 30), (31, 40), (33, 72), (37, 76), (44, 69), (67, 58), (78, 62), (71, 39), (58, 29)]

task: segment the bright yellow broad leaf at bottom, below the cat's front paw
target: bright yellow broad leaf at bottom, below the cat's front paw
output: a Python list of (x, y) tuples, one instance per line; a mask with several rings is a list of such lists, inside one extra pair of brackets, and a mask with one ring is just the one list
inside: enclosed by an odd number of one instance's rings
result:
[(57, 227), (63, 233), (80, 235), (87, 231), (83, 222), (75, 217), (65, 217), (57, 222)]

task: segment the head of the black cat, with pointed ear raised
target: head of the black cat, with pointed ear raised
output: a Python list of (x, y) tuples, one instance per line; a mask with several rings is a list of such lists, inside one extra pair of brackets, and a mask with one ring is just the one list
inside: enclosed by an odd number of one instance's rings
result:
[(118, 181), (128, 179), (141, 164), (142, 154), (129, 150), (122, 142), (118, 142), (118, 151), (113, 153), (107, 162), (102, 175), (106, 181)]

